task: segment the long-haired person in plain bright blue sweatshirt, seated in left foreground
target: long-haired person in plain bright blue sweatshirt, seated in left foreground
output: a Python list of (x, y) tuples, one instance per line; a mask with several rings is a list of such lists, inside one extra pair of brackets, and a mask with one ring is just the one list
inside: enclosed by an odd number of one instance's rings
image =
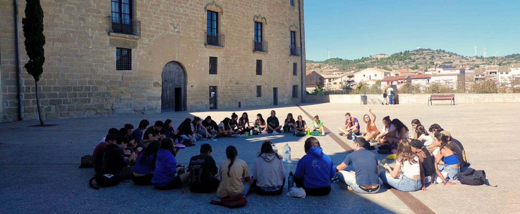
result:
[(177, 155), (177, 152), (179, 152), (179, 149), (174, 150), (171, 138), (162, 140), (161, 147), (157, 152), (152, 178), (152, 184), (156, 189), (173, 190), (188, 182), (190, 172), (181, 173), (184, 168), (176, 167), (175, 155)]

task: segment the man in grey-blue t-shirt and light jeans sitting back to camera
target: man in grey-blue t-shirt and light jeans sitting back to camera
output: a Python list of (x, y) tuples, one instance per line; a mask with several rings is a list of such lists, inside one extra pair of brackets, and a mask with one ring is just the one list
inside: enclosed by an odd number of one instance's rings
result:
[[(344, 182), (354, 192), (361, 194), (377, 193), (379, 191), (378, 158), (367, 150), (370, 144), (363, 137), (354, 141), (354, 152), (348, 154), (343, 163), (336, 166), (337, 178)], [(354, 171), (345, 171), (349, 165)]]

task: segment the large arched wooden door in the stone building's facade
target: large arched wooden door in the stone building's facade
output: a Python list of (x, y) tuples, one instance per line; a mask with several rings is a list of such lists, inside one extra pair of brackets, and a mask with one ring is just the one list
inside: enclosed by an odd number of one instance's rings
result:
[(186, 72), (179, 62), (164, 65), (161, 73), (161, 112), (186, 111)]

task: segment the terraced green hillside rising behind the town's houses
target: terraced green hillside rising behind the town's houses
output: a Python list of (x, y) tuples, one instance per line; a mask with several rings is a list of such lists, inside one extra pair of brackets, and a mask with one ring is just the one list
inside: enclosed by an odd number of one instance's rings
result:
[(484, 58), (464, 57), (441, 49), (417, 49), (401, 51), (379, 59), (369, 56), (355, 60), (341, 58), (331, 58), (325, 61), (307, 60), (307, 70), (352, 71), (370, 67), (386, 70), (404, 68), (427, 70), (438, 64), (467, 64), (478, 67), (486, 64), (505, 65), (518, 62), (520, 62), (520, 54)]

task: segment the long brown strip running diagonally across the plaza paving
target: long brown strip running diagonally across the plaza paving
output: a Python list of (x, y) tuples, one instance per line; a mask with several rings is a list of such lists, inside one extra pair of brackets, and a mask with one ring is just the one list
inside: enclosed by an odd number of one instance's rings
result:
[[(296, 104), (296, 106), (309, 118), (314, 118), (307, 111), (305, 111), (302, 108), (302, 106), (298, 104)], [(332, 138), (332, 140), (334, 140), (338, 145), (340, 145), (341, 148), (343, 148), (347, 153), (354, 151), (352, 147), (350, 147), (347, 143), (341, 140), (340, 137), (338, 137), (335, 133), (332, 133), (327, 127), (323, 126), (323, 131), (329, 132), (329, 136)], [(423, 204), (421, 200), (419, 200), (409, 192), (402, 192), (396, 189), (389, 189), (389, 191), (392, 192), (397, 198), (399, 198), (399, 200), (401, 200), (401, 202), (404, 203), (414, 213), (435, 213), (432, 209), (430, 209), (430, 207)]]

